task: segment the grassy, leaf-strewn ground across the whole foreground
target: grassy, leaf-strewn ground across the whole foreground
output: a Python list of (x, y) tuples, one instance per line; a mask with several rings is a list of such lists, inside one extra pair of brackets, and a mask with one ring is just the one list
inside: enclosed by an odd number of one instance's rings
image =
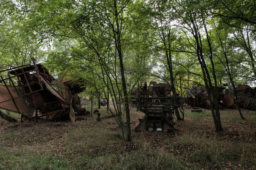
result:
[[(210, 111), (201, 115), (185, 112), (185, 118), (190, 117), (191, 121), (212, 119)], [(131, 116), (137, 120), (136, 112), (132, 111)], [(230, 112), (222, 111), (221, 116), (227, 121), (236, 120)], [(246, 112), (246, 116), (246, 121), (255, 125), (255, 113)], [(210, 127), (207, 121), (198, 126), (198, 130)], [(196, 129), (194, 133), (176, 135), (147, 133), (152, 140), (143, 139), (143, 132), (132, 133), (133, 142), (122, 142), (113, 119), (96, 122), (89, 117), (75, 124), (25, 122), (0, 133), (0, 170), (221, 170), (256, 166), (254, 143), (207, 137)], [(157, 145), (160, 148), (155, 147), (154, 139), (165, 141), (168, 150), (161, 144)]]

